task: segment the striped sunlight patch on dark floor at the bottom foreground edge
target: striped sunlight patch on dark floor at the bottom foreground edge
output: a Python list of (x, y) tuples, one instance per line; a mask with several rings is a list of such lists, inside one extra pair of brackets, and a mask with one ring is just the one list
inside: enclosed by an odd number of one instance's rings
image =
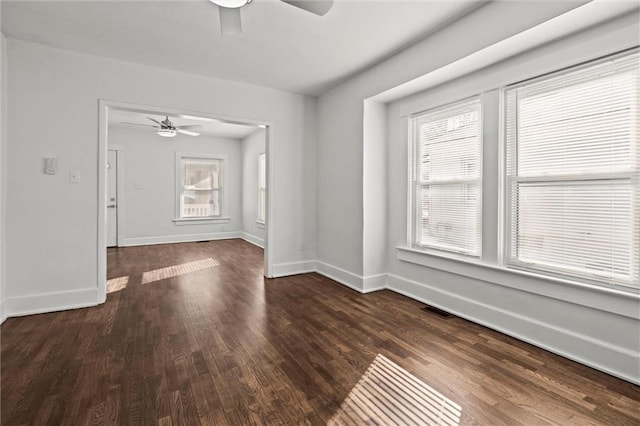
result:
[(458, 425), (462, 408), (381, 354), (328, 425)]

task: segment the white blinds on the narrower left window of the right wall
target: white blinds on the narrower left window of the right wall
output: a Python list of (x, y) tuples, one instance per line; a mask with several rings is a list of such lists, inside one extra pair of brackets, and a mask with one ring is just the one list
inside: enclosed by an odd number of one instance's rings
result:
[(412, 121), (414, 247), (480, 255), (480, 97)]

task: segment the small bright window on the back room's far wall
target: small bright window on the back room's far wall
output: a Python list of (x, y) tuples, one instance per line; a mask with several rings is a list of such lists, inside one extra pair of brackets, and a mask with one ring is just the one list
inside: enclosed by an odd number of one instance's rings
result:
[(222, 216), (224, 159), (177, 154), (179, 218), (208, 219)]

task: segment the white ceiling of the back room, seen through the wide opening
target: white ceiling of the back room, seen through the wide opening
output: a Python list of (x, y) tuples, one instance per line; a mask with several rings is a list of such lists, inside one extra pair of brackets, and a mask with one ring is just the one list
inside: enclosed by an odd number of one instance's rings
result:
[[(243, 139), (258, 130), (258, 126), (229, 123), (208, 117), (185, 116), (180, 114), (158, 114), (155, 112), (138, 112), (113, 108), (109, 108), (108, 120), (110, 126), (117, 126), (135, 130), (147, 129), (149, 132), (155, 132), (156, 129), (154, 129), (153, 126), (156, 124), (149, 120), (148, 117), (154, 118), (158, 121), (162, 121), (165, 119), (165, 116), (169, 117), (169, 120), (173, 123), (174, 126), (200, 126), (197, 129), (189, 130), (193, 130), (194, 132), (198, 132), (204, 136)], [(142, 125), (144, 125), (145, 127), (143, 127)], [(177, 135), (177, 137), (189, 139), (193, 136)]]

